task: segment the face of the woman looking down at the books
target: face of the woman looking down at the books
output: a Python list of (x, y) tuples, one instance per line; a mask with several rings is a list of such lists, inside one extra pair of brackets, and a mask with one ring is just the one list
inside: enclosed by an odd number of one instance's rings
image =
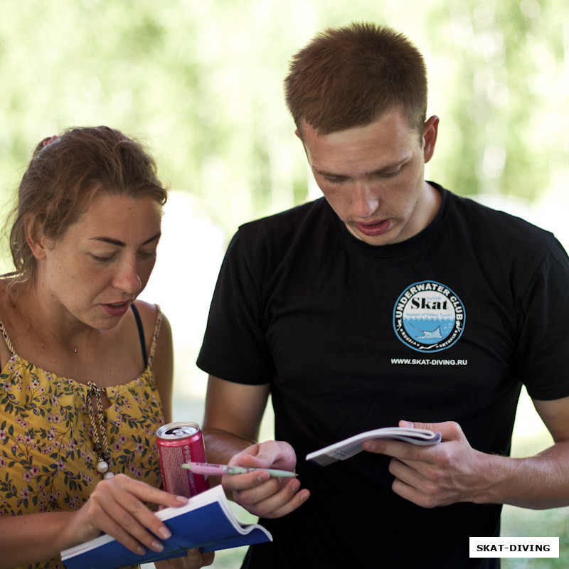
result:
[(37, 248), (38, 287), (66, 319), (111, 329), (149, 280), (160, 238), (153, 198), (99, 193), (55, 242)]

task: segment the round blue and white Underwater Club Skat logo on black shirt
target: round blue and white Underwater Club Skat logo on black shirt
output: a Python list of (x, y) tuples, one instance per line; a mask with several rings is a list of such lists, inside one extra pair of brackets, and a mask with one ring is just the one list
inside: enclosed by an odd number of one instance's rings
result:
[(422, 352), (450, 348), (464, 330), (464, 304), (449, 287), (424, 280), (407, 287), (393, 308), (395, 334)]

